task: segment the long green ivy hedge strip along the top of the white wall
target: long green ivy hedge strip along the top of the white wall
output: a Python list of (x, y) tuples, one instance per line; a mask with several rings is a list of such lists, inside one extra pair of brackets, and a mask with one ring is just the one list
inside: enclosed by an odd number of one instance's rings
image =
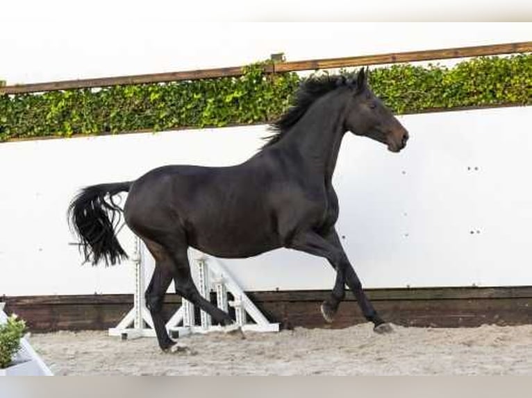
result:
[[(276, 119), (301, 83), (297, 73), (0, 95), (0, 141), (170, 130)], [(348, 71), (343, 71), (348, 73)], [(396, 64), (372, 70), (374, 92), (397, 114), (532, 103), (532, 54), (472, 58), (447, 68)]]

